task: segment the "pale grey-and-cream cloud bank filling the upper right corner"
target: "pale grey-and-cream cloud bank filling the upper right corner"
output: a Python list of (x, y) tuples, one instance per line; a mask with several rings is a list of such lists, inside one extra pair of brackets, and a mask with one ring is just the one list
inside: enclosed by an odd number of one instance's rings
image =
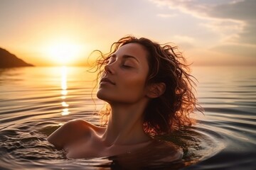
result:
[(207, 28), (225, 36), (223, 40), (256, 45), (256, 1), (150, 0), (183, 13), (208, 20)]

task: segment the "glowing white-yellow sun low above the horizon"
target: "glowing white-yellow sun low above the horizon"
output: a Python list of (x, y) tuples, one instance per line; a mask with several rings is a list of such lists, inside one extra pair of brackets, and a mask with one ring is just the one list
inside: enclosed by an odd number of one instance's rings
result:
[(82, 55), (82, 46), (70, 41), (52, 42), (46, 47), (46, 55), (55, 64), (73, 64)]

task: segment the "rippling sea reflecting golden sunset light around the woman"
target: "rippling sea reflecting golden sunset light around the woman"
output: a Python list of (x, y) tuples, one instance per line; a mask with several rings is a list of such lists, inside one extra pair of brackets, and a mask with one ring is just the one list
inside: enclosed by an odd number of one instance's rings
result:
[(0, 169), (256, 169), (256, 67), (192, 65), (191, 74), (204, 111), (192, 127), (160, 136), (183, 158), (150, 164), (150, 154), (68, 159), (46, 140), (69, 120), (100, 125), (104, 103), (87, 67), (0, 69)]

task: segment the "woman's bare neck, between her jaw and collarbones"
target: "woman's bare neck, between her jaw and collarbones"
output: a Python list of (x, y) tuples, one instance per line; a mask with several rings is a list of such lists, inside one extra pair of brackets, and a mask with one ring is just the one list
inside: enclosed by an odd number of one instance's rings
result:
[(112, 113), (102, 136), (107, 145), (134, 145), (150, 140), (143, 129), (144, 105), (111, 104)]

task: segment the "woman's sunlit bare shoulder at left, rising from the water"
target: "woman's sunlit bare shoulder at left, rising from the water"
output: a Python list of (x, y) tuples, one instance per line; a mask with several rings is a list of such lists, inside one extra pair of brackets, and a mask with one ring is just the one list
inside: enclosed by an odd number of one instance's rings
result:
[(55, 130), (48, 138), (48, 142), (55, 145), (58, 149), (63, 149), (65, 146), (80, 140), (81, 138), (89, 138), (92, 132), (100, 133), (104, 128), (92, 125), (86, 120), (75, 119), (62, 125), (58, 130)]

